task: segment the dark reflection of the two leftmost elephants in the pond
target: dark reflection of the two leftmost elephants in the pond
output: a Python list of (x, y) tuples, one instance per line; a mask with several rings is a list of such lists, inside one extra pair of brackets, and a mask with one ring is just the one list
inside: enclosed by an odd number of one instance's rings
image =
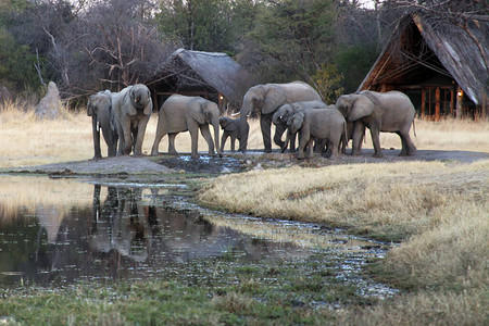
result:
[(95, 185), (91, 249), (109, 253), (117, 251), (137, 262), (143, 262), (151, 249), (150, 210), (139, 204), (141, 189), (108, 187), (103, 204), (101, 186)]

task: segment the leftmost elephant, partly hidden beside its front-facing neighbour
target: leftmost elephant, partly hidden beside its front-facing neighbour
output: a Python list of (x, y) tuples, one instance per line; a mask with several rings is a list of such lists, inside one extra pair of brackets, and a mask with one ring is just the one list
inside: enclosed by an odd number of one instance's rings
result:
[(115, 156), (117, 151), (117, 130), (113, 121), (112, 93), (110, 90), (91, 95), (87, 102), (87, 114), (91, 116), (91, 133), (93, 136), (93, 160), (102, 159), (100, 151), (100, 129), (108, 147), (108, 155)]

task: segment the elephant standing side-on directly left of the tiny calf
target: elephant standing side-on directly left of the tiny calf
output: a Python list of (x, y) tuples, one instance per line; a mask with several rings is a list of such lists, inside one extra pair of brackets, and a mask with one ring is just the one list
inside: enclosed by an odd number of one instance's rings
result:
[(187, 97), (181, 95), (171, 96), (161, 105), (156, 137), (154, 138), (152, 155), (158, 155), (160, 141), (166, 134), (168, 135), (168, 153), (178, 154), (175, 150), (175, 137), (178, 133), (190, 131), (191, 156), (198, 158), (198, 128), (209, 145), (209, 154), (214, 155), (214, 145), (212, 142), (209, 124), (214, 127), (214, 141), (217, 154), (222, 156), (220, 148), (220, 109), (217, 104), (201, 97)]

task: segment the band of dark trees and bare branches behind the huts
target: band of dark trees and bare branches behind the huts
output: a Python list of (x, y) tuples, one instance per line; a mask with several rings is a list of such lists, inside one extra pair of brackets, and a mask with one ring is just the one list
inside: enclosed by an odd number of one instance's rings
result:
[(464, 28), (489, 13), (485, 0), (373, 3), (0, 0), (0, 83), (22, 90), (53, 80), (64, 98), (118, 90), (145, 83), (184, 47), (226, 52), (261, 83), (308, 82), (334, 101), (356, 90), (402, 15), (423, 13)]

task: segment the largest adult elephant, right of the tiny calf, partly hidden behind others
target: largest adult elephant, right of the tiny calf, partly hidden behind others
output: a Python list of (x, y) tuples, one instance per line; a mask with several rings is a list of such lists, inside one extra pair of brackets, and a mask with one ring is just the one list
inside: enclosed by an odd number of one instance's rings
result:
[[(244, 123), (250, 113), (260, 113), (260, 126), (262, 129), (263, 143), (265, 152), (272, 152), (271, 127), (274, 112), (286, 103), (301, 101), (321, 101), (317, 91), (303, 82), (292, 82), (289, 84), (265, 84), (251, 87), (243, 97), (240, 110), (241, 135), (239, 150), (246, 152), (248, 145), (248, 133)], [(277, 126), (275, 129), (274, 141), (280, 148), (284, 147), (281, 135), (285, 128)]]

